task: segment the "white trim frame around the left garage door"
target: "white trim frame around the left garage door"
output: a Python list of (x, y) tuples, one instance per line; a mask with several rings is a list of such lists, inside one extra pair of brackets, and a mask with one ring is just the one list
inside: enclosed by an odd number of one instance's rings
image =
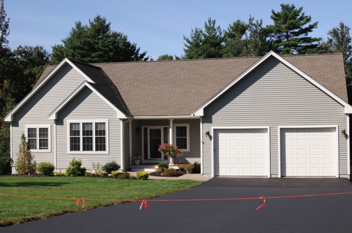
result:
[[(265, 177), (270, 177), (271, 171), (270, 171), (270, 127), (269, 126), (213, 126), (211, 128), (210, 135), (214, 134), (215, 130), (218, 129), (267, 129), (267, 151), (266, 153), (268, 154), (266, 158), (266, 163), (268, 164), (268, 174)], [(215, 157), (214, 157), (214, 138), (212, 140), (212, 177), (215, 177)]]

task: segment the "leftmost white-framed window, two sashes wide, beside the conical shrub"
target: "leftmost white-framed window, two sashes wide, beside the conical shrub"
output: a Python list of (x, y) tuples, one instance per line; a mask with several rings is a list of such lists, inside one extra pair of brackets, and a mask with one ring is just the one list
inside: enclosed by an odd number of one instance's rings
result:
[(26, 126), (26, 138), (32, 151), (50, 151), (50, 126)]

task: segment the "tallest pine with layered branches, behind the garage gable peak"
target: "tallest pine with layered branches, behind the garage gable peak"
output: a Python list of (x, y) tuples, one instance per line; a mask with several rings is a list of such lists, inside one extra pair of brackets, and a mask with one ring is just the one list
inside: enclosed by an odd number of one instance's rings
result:
[[(281, 11), (271, 11), (274, 25), (267, 25), (269, 38), (274, 40), (274, 50), (280, 55), (306, 54), (318, 46), (315, 42), (321, 38), (308, 36), (317, 27), (318, 22), (309, 24), (312, 17), (304, 15), (303, 7), (296, 9), (292, 4), (281, 4)], [(306, 26), (308, 24), (308, 26)]]

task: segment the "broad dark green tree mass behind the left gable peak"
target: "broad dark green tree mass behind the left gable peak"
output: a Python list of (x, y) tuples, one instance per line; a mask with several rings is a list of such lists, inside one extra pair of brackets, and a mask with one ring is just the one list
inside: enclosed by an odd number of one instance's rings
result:
[(58, 64), (65, 57), (86, 63), (146, 61), (146, 51), (140, 53), (136, 43), (128, 41), (121, 32), (112, 31), (111, 22), (97, 15), (89, 25), (75, 22), (63, 45), (52, 46), (52, 62)]

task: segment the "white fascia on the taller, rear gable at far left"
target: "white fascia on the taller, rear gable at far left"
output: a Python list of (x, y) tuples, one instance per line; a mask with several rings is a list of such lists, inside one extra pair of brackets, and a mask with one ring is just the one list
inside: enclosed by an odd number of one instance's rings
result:
[(61, 69), (65, 64), (69, 64), (72, 66), (78, 73), (80, 73), (84, 78), (86, 78), (89, 82), (93, 82), (92, 79), (90, 79), (86, 74), (84, 74), (80, 69), (78, 69), (68, 58), (63, 59), (46, 77), (39, 82), (39, 84), (32, 89), (32, 91), (23, 99), (19, 104), (12, 109), (12, 111), (7, 114), (7, 116), (4, 118), (4, 121), (13, 121), (13, 114), (15, 114), (18, 109), (20, 109), (37, 91), (53, 76), (55, 75), (59, 69)]

